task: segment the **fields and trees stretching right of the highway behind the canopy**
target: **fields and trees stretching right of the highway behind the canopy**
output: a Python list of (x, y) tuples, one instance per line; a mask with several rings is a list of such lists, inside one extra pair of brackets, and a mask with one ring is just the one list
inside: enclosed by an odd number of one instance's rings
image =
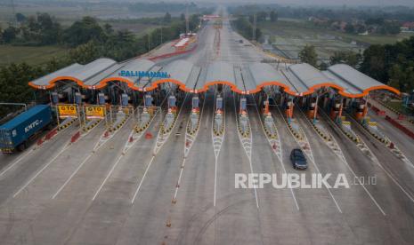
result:
[[(249, 39), (252, 16), (256, 15), (259, 41), (272, 44), (281, 39), (280, 46), (290, 52), (297, 43), (304, 43), (297, 51), (302, 62), (321, 69), (345, 63), (400, 91), (414, 90), (414, 29), (410, 29), (410, 23), (414, 28), (414, 11), (410, 8), (322, 9), (261, 4), (234, 6), (229, 12), (236, 18), (233, 25)], [(264, 35), (268, 36), (266, 40)], [(328, 36), (325, 43), (317, 39), (321, 36)], [(309, 44), (313, 38), (318, 46)], [(337, 47), (332, 44), (335, 42)], [(360, 43), (361, 48), (353, 51), (347, 43)], [(319, 51), (328, 51), (327, 45), (332, 45), (330, 55), (321, 59)]]

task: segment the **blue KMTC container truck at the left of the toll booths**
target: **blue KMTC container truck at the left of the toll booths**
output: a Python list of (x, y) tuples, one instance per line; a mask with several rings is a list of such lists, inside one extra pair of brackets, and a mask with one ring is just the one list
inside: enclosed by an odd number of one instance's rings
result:
[(37, 105), (0, 126), (0, 150), (3, 153), (22, 151), (28, 142), (53, 123), (52, 108)]

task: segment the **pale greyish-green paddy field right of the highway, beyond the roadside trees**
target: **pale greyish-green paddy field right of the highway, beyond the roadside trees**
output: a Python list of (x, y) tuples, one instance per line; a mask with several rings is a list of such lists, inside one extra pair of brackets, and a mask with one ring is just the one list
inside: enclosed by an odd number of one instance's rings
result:
[(273, 52), (280, 56), (298, 59), (298, 54), (305, 45), (313, 45), (318, 59), (323, 62), (329, 62), (336, 51), (361, 53), (371, 44), (395, 43), (410, 36), (406, 33), (396, 36), (352, 35), (316, 27), (304, 20), (265, 21), (259, 23), (258, 27), (262, 29), (264, 36), (270, 37), (269, 43), (272, 43)]

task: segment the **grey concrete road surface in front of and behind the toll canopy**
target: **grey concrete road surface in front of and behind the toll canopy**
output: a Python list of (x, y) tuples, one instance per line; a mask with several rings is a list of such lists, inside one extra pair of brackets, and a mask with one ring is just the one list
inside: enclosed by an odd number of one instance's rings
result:
[[(224, 20), (220, 51), (216, 30), (199, 33), (199, 47), (183, 56), (199, 66), (223, 60), (243, 66), (265, 54), (231, 30)], [(240, 44), (239, 39), (244, 40)], [(164, 61), (166, 62), (166, 61)], [(134, 119), (93, 150), (103, 123), (67, 145), (75, 125), (36, 151), (0, 161), (1, 244), (412, 244), (414, 168), (356, 125), (371, 160), (327, 118), (320, 123), (337, 140), (345, 161), (325, 144), (304, 115), (294, 117), (312, 149), (307, 170), (294, 170), (290, 151), (299, 147), (276, 107), (279, 158), (266, 138), (257, 100), (248, 97), (251, 157), (242, 146), (236, 122), (237, 97), (224, 88), (225, 131), (215, 156), (215, 88), (206, 92), (199, 131), (188, 155), (186, 125), (191, 97), (179, 107), (175, 127), (157, 154), (158, 130), (165, 112), (125, 152)], [(236, 103), (235, 103), (236, 101)], [(375, 115), (374, 115), (375, 117)], [(377, 118), (380, 128), (414, 162), (411, 139)], [(21, 159), (20, 159), (21, 157)], [(344, 174), (375, 177), (376, 185), (350, 188), (235, 188), (236, 173)], [(329, 179), (332, 183), (333, 179)]]

